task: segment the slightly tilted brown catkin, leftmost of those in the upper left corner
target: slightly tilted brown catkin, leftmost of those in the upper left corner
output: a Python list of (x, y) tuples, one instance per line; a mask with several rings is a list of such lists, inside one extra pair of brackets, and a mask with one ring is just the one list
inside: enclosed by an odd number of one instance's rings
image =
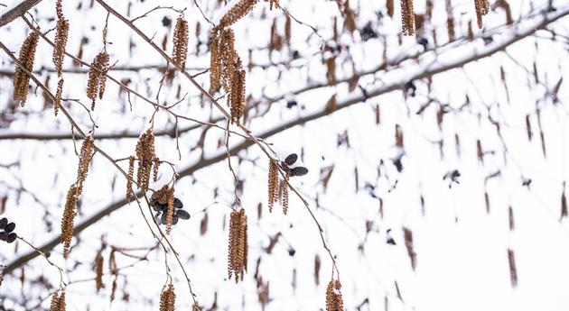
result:
[[(22, 48), (20, 49), (20, 56), (18, 60), (22, 63), (23, 67), (28, 71), (33, 71), (33, 60), (35, 59), (35, 49), (38, 45), (40, 35), (37, 32), (32, 32), (23, 41)], [(14, 100), (19, 100), (20, 105), (24, 106), (28, 97), (28, 86), (30, 84), (30, 76), (23, 71), (19, 66), (14, 70)]]

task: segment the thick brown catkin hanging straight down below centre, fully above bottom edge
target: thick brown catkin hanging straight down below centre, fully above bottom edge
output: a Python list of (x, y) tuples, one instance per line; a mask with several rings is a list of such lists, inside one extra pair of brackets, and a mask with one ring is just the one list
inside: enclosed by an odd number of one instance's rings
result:
[(241, 207), (231, 212), (229, 218), (229, 251), (228, 274), (229, 279), (235, 275), (235, 282), (243, 280), (244, 271), (247, 271), (247, 215)]

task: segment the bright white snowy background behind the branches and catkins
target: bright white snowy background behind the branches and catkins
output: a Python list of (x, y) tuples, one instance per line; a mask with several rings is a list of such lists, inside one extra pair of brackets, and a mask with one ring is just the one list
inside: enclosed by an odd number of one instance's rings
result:
[[(212, 21), (218, 21), (227, 10), (219, 8), (218, 1), (198, 2)], [(344, 305), (348, 310), (358, 307), (361, 310), (569, 309), (569, 224), (567, 217), (560, 217), (560, 198), (563, 191), (567, 192), (563, 185), (569, 178), (569, 88), (566, 87), (569, 18), (562, 17), (547, 26), (557, 33), (555, 41), (551, 40), (552, 32), (538, 31), (489, 58), (434, 75), (430, 87), (426, 78), (415, 80), (415, 96), (406, 94), (402, 87), (410, 77), (481, 54), (490, 50), (493, 44), (508, 41), (515, 33), (532, 29), (544, 18), (541, 12), (547, 1), (509, 2), (514, 20), (518, 22), (523, 16), (524, 21), (512, 28), (501, 26), (504, 14), (496, 9), (484, 17), (482, 31), (474, 28), (474, 41), (462, 39), (447, 43), (445, 4), (434, 0), (433, 20), (427, 27), (431, 50), (426, 52), (415, 37), (404, 37), (399, 44), (397, 2), (396, 13), (391, 18), (386, 14), (383, 1), (350, 1), (357, 12), (358, 29), (370, 22), (385, 41), (377, 38), (363, 41), (358, 31), (353, 34), (340, 32), (343, 22), (335, 2), (281, 2), (296, 19), (315, 27), (328, 43), (331, 42), (333, 18), (338, 18), (338, 41), (342, 46), (336, 58), (339, 80), (351, 77), (354, 70), (364, 72), (377, 68), (383, 62), (384, 50), (390, 61), (421, 54), (393, 68), (374, 70), (375, 74), (359, 78), (359, 86), (368, 91), (392, 85), (396, 86), (393, 91), (267, 138), (283, 159), (292, 152), (302, 153), (303, 165), (310, 169), (308, 175), (293, 178), (292, 184), (308, 200), (322, 224), (326, 241), (338, 262)], [(0, 2), (5, 5), (3, 12), (16, 3)], [(564, 0), (553, 3), (556, 14), (566, 14), (569, 10)], [(96, 2), (91, 5), (90, 1), (63, 1), (63, 5), (71, 24), (67, 50), (77, 55), (81, 38), (88, 38), (81, 58), (90, 62), (102, 49), (101, 32), (107, 12)], [(191, 35), (186, 67), (191, 73), (208, 68), (207, 41), (211, 27), (192, 2), (168, 1), (166, 4), (146, 0), (130, 5), (126, 1), (113, 2), (112, 5), (121, 14), (126, 15), (128, 11), (131, 19), (156, 5), (173, 5), (176, 9), (187, 7), (185, 18), (190, 23)], [(424, 1), (415, 1), (415, 10), (417, 14), (424, 13)], [(42, 32), (54, 27), (52, 1), (42, 1), (30, 13)], [(452, 1), (452, 14), (457, 36), (462, 37), (468, 21), (476, 18), (472, 1)], [(28, 18), (31, 15), (28, 14)], [(172, 28), (163, 26), (164, 16), (175, 22), (177, 14), (171, 10), (157, 10), (136, 21), (135, 25), (159, 44), (165, 35), (171, 37), (172, 33)], [(278, 32), (284, 33), (283, 11), (269, 11), (268, 4), (260, 2), (251, 14), (232, 27), (236, 32), (238, 54), (244, 59), (245, 66), (249, 62), (263, 65), (247, 71), (249, 105), (258, 102), (259, 106), (252, 109), (246, 126), (256, 135), (322, 111), (333, 95), (339, 104), (362, 96), (359, 87), (350, 90), (347, 83), (294, 95), (294, 90), (302, 87), (326, 84), (326, 67), (322, 59), (328, 58), (330, 51), (322, 52), (322, 39), (314, 35), (311, 28), (293, 21), (290, 47), (274, 51), (269, 58), (266, 46), (274, 19)], [(201, 24), (199, 37), (194, 32), (197, 23)], [(432, 50), (433, 29), (436, 29), (440, 46), (436, 50)], [(26, 23), (16, 19), (0, 29), (0, 40), (17, 55), (29, 32)], [(493, 39), (490, 44), (481, 38), (488, 35)], [(52, 40), (54, 32), (47, 36)], [(107, 41), (112, 43), (107, 46), (107, 51), (111, 63), (117, 62), (117, 68), (165, 65), (158, 53), (112, 15), (108, 19)], [(172, 41), (166, 46), (167, 52), (171, 53)], [(300, 53), (301, 59), (288, 62), (294, 50)], [(69, 122), (61, 114), (53, 115), (51, 103), (45, 104), (41, 90), (33, 95), (33, 83), (26, 106), (11, 109), (14, 103), (9, 72), (13, 72), (14, 63), (4, 52), (0, 55), (3, 72), (0, 78), (3, 114), (0, 137), (14, 133), (69, 134)], [(35, 60), (34, 69), (52, 69), (51, 46), (45, 41), (40, 40)], [(288, 62), (289, 65), (271, 65), (277, 62)], [(63, 67), (83, 70), (82, 73), (64, 72), (64, 97), (76, 98), (88, 105), (86, 68), (76, 67), (69, 57)], [(506, 73), (508, 90), (500, 78), (500, 69)], [(157, 69), (111, 70), (109, 74), (119, 80), (128, 79), (130, 87), (153, 100), (163, 77)], [(51, 77), (49, 87), (55, 90), (55, 73), (41, 70), (36, 76), (42, 81)], [(564, 81), (556, 96), (558, 100), (554, 101), (550, 93), (560, 78)], [(197, 79), (206, 88), (209, 86), (209, 74)], [(181, 98), (179, 94), (186, 93), (188, 96), (176, 106), (176, 113), (202, 121), (220, 115), (179, 74), (164, 85), (160, 100), (171, 105)], [(277, 96), (284, 96), (284, 99), (267, 105), (267, 98)], [(469, 105), (464, 105), (466, 96)], [(126, 93), (119, 92), (116, 84), (107, 81), (105, 97), (98, 101), (92, 113), (98, 123), (96, 137), (107, 133), (142, 133), (148, 128), (154, 109), (139, 98), (130, 97), (132, 111)], [(289, 109), (286, 104), (292, 99), (298, 105)], [(423, 113), (417, 114), (429, 102), (431, 104)], [(65, 105), (69, 106), (79, 125), (89, 130), (89, 115), (85, 109), (73, 102)], [(379, 123), (376, 122), (377, 106)], [(438, 124), (437, 113), (442, 106), (447, 112), (443, 114), (443, 122)], [(527, 138), (527, 115), (532, 126), (531, 140)], [(7, 119), (13, 121), (6, 123)], [(490, 119), (500, 124), (503, 139), (500, 140)], [(225, 122), (219, 124), (225, 126)], [(395, 145), (396, 124), (404, 133), (403, 151)], [(190, 121), (178, 123), (180, 128), (191, 125), (194, 123)], [(162, 111), (156, 114), (154, 132), (170, 130), (173, 126), (171, 114)], [(542, 151), (539, 126), (544, 133), (546, 156)], [(176, 140), (157, 136), (157, 155), (161, 160), (173, 162), (177, 170), (182, 171), (201, 159), (225, 153), (223, 145), (219, 147), (219, 140), (224, 139), (222, 130), (211, 128), (206, 133), (202, 150), (195, 148), (201, 133), (196, 130), (181, 134), (182, 160), (178, 159)], [(349, 142), (339, 138), (344, 133)], [(477, 159), (477, 140), (484, 151), (483, 162)], [(231, 145), (239, 142), (242, 142), (241, 138), (231, 136)], [(438, 142), (443, 142), (442, 147)], [(119, 159), (133, 154), (136, 137), (96, 140), (96, 143)], [(394, 160), (402, 152), (402, 170), (398, 171)], [(225, 222), (234, 203), (233, 177), (227, 160), (180, 178), (176, 185), (176, 197), (180, 197), (191, 212), (191, 220), (176, 225), (171, 240), (180, 252), (201, 306), (215, 310), (212, 305), (217, 299), (220, 310), (261, 310), (254, 277), (258, 270), (258, 275), (270, 288), (270, 302), (265, 310), (323, 309), (331, 261), (322, 249), (312, 218), (294, 196), (288, 215), (282, 215), (278, 206), (269, 214), (265, 154), (252, 146), (247, 151), (240, 151), (238, 156), (232, 158), (232, 163), (238, 178), (244, 182), (240, 194), (249, 220), (250, 249), (248, 273), (237, 285), (227, 279), (228, 230)], [(75, 179), (77, 162), (70, 139), (0, 140), (0, 186), (2, 197), (7, 197), (1, 212), (16, 223), (16, 232), (27, 241), (41, 246), (60, 234), (65, 195)], [(8, 166), (10, 163), (17, 164)], [(127, 169), (126, 161), (119, 163)], [(330, 180), (325, 185), (323, 179), (331, 168)], [(459, 183), (443, 179), (454, 169), (461, 173)], [(499, 175), (486, 179), (496, 172)], [(163, 165), (160, 178), (153, 187), (159, 188), (171, 178), (171, 169)], [(529, 187), (523, 185), (525, 179), (531, 179)], [(123, 199), (125, 185), (126, 180), (117, 169), (96, 154), (76, 224)], [(487, 213), (485, 193), (489, 197), (490, 213)], [(258, 215), (258, 204), (262, 205), (262, 215)], [(515, 224), (512, 230), (509, 228), (510, 207)], [(201, 224), (206, 216), (208, 230), (201, 234)], [(413, 233), (415, 270), (407, 255), (404, 228)], [(388, 229), (391, 229), (396, 245), (387, 243)], [(274, 249), (266, 252), (270, 239), (277, 233), (282, 235)], [(149, 261), (140, 262), (117, 254), (119, 267), (135, 264), (121, 270), (117, 279), (117, 298), (111, 303), (113, 278), (106, 274), (103, 279), (106, 288), (98, 293), (92, 280), (92, 264), (101, 248), (101, 240), (107, 245), (129, 248), (155, 244), (138, 207), (131, 203), (80, 233), (79, 239), (74, 239), (67, 260), (61, 256), (61, 245), (56, 246), (50, 258), (64, 268), (65, 281), (70, 282), (66, 289), (68, 310), (157, 309), (166, 278), (163, 250), (155, 249), (148, 255)], [(510, 282), (508, 249), (515, 253), (518, 272), (515, 287)], [(23, 242), (3, 242), (0, 251), (0, 261), (9, 265), (32, 250)], [(106, 273), (108, 253), (107, 247), (103, 252)], [(145, 251), (132, 253), (144, 255)], [(322, 262), (318, 281), (314, 276), (316, 256)], [(172, 256), (168, 261), (173, 269), (178, 309), (191, 310), (191, 297), (182, 271)], [(40, 276), (51, 288), (37, 281)], [(14, 310), (48, 307), (49, 297), (58, 288), (58, 282), (58, 270), (37, 257), (23, 269), (5, 275), (0, 288), (0, 304)]]

